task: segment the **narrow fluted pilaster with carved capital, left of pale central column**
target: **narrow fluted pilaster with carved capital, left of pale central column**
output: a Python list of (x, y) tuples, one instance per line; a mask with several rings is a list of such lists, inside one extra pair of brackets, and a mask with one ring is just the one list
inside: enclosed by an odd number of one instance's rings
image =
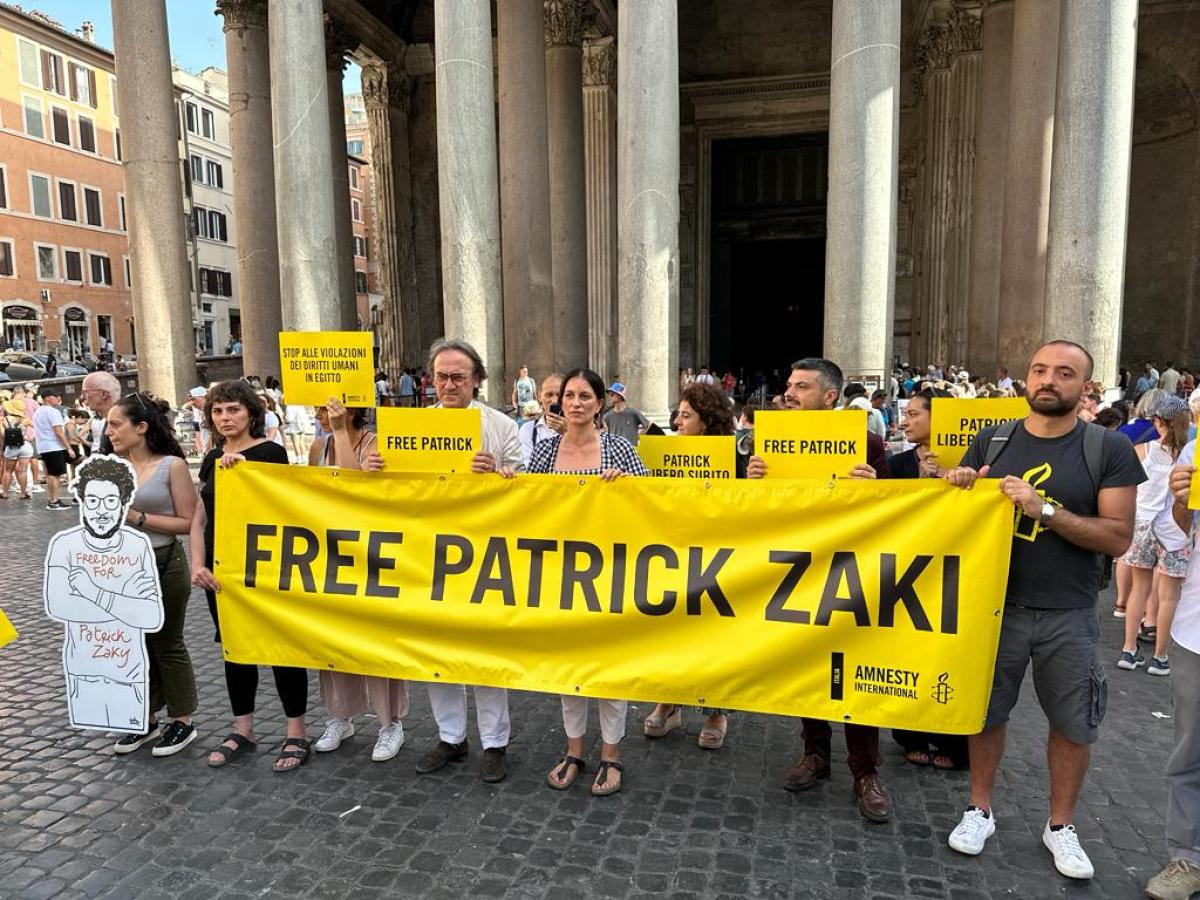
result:
[(588, 366), (619, 374), (617, 358), (617, 43), (583, 46), (583, 158), (588, 214)]

